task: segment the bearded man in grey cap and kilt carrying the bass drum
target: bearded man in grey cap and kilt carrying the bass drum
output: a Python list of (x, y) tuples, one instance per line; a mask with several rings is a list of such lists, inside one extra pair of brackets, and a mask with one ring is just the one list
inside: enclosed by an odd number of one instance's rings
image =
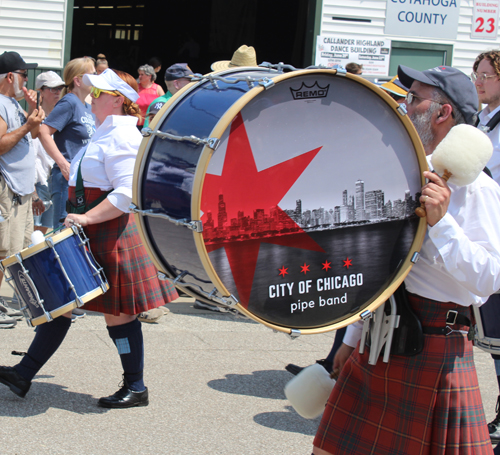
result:
[[(408, 116), (430, 155), (458, 124), (474, 125), (477, 93), (461, 71), (400, 66)], [(452, 152), (452, 150), (451, 150)], [(500, 187), (484, 172), (458, 187), (426, 171), (427, 235), (405, 279), (423, 350), (368, 364), (362, 325), (348, 327), (334, 359), (340, 376), (314, 440), (315, 455), (491, 454), (474, 366), (470, 306), (500, 287)], [(412, 334), (413, 335), (413, 334)]]

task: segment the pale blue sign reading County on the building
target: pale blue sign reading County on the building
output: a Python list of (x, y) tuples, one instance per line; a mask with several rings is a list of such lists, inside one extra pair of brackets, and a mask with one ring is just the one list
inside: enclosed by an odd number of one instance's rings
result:
[(385, 34), (456, 39), (460, 0), (387, 0)]

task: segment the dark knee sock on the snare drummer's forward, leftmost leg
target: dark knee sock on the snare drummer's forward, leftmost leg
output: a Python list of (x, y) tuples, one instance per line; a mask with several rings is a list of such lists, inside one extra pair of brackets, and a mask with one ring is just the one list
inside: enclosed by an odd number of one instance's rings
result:
[(28, 352), (14, 367), (17, 372), (27, 381), (31, 381), (61, 346), (70, 327), (71, 319), (64, 316), (39, 325)]

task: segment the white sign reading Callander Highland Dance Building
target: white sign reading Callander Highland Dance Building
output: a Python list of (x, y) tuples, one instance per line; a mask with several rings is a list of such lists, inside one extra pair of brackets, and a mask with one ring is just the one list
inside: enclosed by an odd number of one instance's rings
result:
[(363, 76), (387, 76), (391, 40), (383, 37), (320, 35), (316, 41), (316, 65), (363, 65)]

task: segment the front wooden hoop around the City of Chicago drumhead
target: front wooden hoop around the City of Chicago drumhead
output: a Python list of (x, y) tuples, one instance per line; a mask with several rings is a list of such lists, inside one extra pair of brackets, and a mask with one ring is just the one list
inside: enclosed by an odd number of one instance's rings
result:
[[(290, 79), (292, 77), (300, 76), (300, 75), (310, 75), (310, 74), (332, 74), (336, 75), (337, 70), (327, 70), (327, 69), (318, 69), (318, 70), (299, 70), (299, 71), (293, 71), (290, 73), (285, 73), (278, 75), (273, 78), (273, 82), (275, 84)], [(395, 100), (393, 100), (389, 95), (387, 95), (382, 89), (378, 88), (375, 84), (372, 84), (371, 82), (368, 82), (360, 77), (347, 74), (345, 76), (339, 76), (339, 77), (347, 77), (348, 79), (351, 79), (352, 81), (364, 85), (377, 95), (379, 95), (384, 101), (386, 101), (386, 104), (392, 108), (396, 113), (397, 107), (399, 106), (398, 103), (396, 103)], [(253, 98), (255, 98), (257, 95), (259, 95), (262, 91), (264, 91), (264, 87), (254, 87), (253, 89), (249, 90), (247, 93), (245, 93), (242, 97), (238, 98), (238, 100), (224, 113), (224, 115), (221, 117), (221, 119), (217, 122), (215, 125), (214, 129), (210, 133), (210, 137), (215, 137), (220, 139), (224, 132), (227, 130), (227, 128), (230, 126), (231, 122), (234, 120), (234, 117), (236, 114), (238, 114), (243, 107), (245, 107)], [(271, 89), (272, 90), (272, 89)], [(413, 143), (416, 155), (417, 155), (417, 160), (420, 168), (420, 181), (421, 185), (423, 186), (425, 184), (424, 177), (423, 177), (423, 171), (428, 170), (428, 165), (427, 165), (427, 160), (425, 158), (425, 153), (424, 149), (422, 146), (422, 142), (420, 141), (420, 138), (418, 136), (417, 131), (415, 130), (415, 127), (413, 126), (412, 122), (410, 121), (409, 118), (407, 118), (406, 115), (397, 115), (397, 117), (400, 119), (401, 123), (403, 126), (406, 128), (407, 132), (409, 133), (410, 139)], [(214, 151), (210, 148), (205, 146), (204, 149), (201, 152), (200, 158), (198, 160), (198, 166), (196, 167), (196, 172), (195, 172), (195, 177), (193, 181), (193, 193), (192, 193), (192, 201), (191, 201), (191, 219), (193, 220), (199, 220), (201, 213), (200, 213), (200, 207), (201, 207), (201, 193), (202, 193), (202, 188), (203, 188), (203, 182), (204, 178), (206, 175), (206, 171), (208, 169), (208, 164), (210, 162), (210, 159), (213, 155)], [(420, 251), (420, 248), (422, 247), (425, 233), (427, 231), (427, 220), (426, 218), (420, 218), (419, 220), (419, 225), (417, 228), (417, 232), (415, 234), (415, 237), (413, 239), (411, 248), (409, 250), (409, 253), (407, 257), (405, 258), (403, 264), (400, 266), (398, 273), (396, 276), (393, 278), (389, 286), (382, 291), (380, 294), (377, 296), (374, 296), (372, 299), (372, 302), (368, 303), (368, 305), (365, 305), (362, 310), (357, 311), (355, 314), (351, 314), (347, 318), (343, 319), (342, 321), (336, 323), (336, 324), (329, 324), (321, 327), (314, 327), (310, 329), (300, 329), (300, 333), (302, 334), (319, 334), (319, 333), (324, 333), (328, 332), (331, 330), (336, 330), (342, 327), (345, 327), (349, 324), (352, 324), (353, 322), (359, 321), (361, 319), (361, 314), (366, 312), (366, 311), (371, 311), (374, 312), (382, 303), (384, 303), (395, 291), (396, 289), (401, 285), (403, 280), (406, 278), (406, 275), (411, 270), (412, 266), (412, 257), (414, 256), (415, 252)], [(228, 289), (224, 286), (222, 281), (220, 280), (219, 276), (215, 272), (215, 269), (209, 260), (208, 252), (206, 250), (206, 246), (203, 240), (203, 234), (202, 233), (197, 233), (193, 232), (193, 237), (196, 245), (196, 249), (198, 251), (198, 256), (200, 258), (200, 261), (203, 264), (203, 267), (205, 268), (205, 271), (207, 272), (207, 275), (209, 276), (210, 280), (216, 287), (216, 289), (222, 294), (223, 297), (228, 297), (231, 293), (228, 291)], [(283, 326), (278, 326), (274, 323), (271, 323), (269, 321), (266, 321), (265, 319), (262, 319), (259, 316), (254, 315), (250, 311), (248, 311), (246, 308), (244, 308), (241, 304), (236, 305), (238, 311), (241, 313), (245, 314), (246, 316), (250, 317), (251, 319), (260, 322), (261, 324), (264, 324), (265, 326), (281, 331), (281, 332), (286, 332), (286, 333), (291, 333), (292, 329), (289, 327), (283, 327)], [(299, 330), (299, 329), (297, 329)]]

